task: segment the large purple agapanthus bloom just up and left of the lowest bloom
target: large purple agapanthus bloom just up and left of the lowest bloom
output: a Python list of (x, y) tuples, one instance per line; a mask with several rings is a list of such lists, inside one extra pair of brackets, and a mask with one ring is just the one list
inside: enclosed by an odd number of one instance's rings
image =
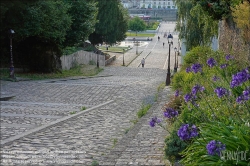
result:
[(177, 135), (182, 140), (189, 140), (198, 136), (198, 129), (195, 125), (183, 124), (178, 130)]

